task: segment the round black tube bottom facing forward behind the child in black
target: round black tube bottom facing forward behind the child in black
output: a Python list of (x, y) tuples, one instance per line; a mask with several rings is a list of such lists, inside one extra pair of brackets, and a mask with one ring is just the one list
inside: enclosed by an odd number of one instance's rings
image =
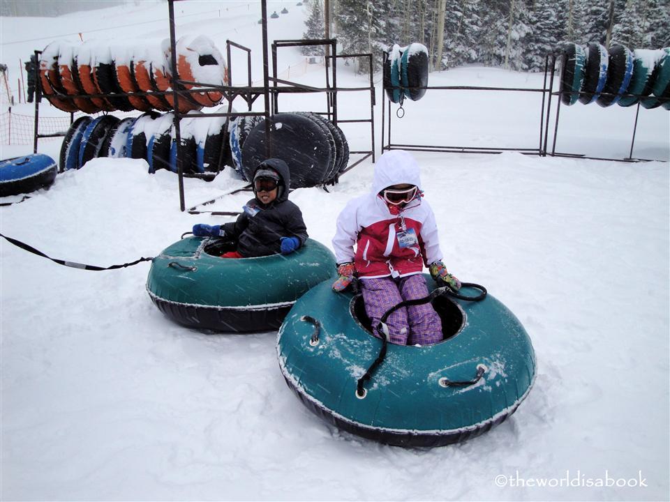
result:
[[(270, 118), (271, 156), (288, 164), (291, 188), (319, 185), (332, 165), (332, 152), (325, 132), (306, 116), (280, 113)], [(247, 180), (267, 158), (265, 120), (242, 145), (242, 169)]]

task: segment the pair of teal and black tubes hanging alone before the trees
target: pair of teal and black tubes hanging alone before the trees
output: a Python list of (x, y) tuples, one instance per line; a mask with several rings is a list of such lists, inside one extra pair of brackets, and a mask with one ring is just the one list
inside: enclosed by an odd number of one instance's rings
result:
[(391, 102), (421, 99), (428, 86), (428, 49), (420, 43), (405, 47), (394, 44), (384, 65), (384, 88)]

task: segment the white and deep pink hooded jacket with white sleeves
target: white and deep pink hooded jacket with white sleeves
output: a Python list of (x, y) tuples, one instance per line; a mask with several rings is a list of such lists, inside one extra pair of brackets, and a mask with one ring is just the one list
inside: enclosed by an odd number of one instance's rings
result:
[(384, 153), (375, 165), (371, 193), (350, 201), (337, 218), (337, 263), (353, 261), (359, 277), (404, 277), (442, 259), (435, 215), (426, 201), (417, 197), (392, 214), (379, 197), (384, 188), (401, 183), (420, 190), (419, 166), (408, 152)]

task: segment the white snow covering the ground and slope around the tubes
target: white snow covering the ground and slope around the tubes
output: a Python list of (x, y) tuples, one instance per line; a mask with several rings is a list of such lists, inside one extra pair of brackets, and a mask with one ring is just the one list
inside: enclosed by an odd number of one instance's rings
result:
[[(223, 40), (258, 48), (258, 3), (177, 6), (243, 4), (244, 17), (194, 19), (210, 35), (248, 24), (249, 33)], [(304, 31), (294, 2), (269, 2), (269, 10), (284, 5), (292, 17), (278, 20), (286, 24), (271, 40)], [(55, 36), (131, 17), (105, 13), (104, 23), (90, 11), (37, 22)], [(137, 22), (166, 17), (163, 4), (133, 11)], [(34, 38), (27, 22), (1, 20), (7, 61), (34, 49), (37, 42), (6, 45)], [(304, 81), (318, 78), (310, 70)], [(435, 85), (541, 79), (490, 68), (431, 75)], [(283, 109), (318, 109), (320, 99), (296, 97)], [(394, 121), (394, 142), (533, 148), (535, 102), (523, 93), (489, 99), (426, 93)], [(356, 118), (366, 106), (364, 97), (341, 102)], [(669, 499), (669, 116), (641, 110), (634, 151), (664, 162), (416, 153), (449, 270), (510, 307), (537, 355), (535, 387), (514, 416), (456, 446), (403, 450), (328, 427), (285, 385), (276, 333), (211, 335), (172, 324), (144, 289), (149, 264), (80, 271), (0, 242), (0, 499)], [(562, 107), (557, 149), (626, 156), (633, 121), (634, 109)], [(345, 133), (352, 149), (369, 148), (363, 128)], [(57, 158), (59, 146), (43, 141), (40, 151)], [(7, 158), (31, 147), (0, 150)], [(336, 215), (370, 188), (372, 171), (366, 161), (331, 193), (292, 193), (312, 238), (330, 245)], [(185, 184), (193, 206), (241, 181), (225, 169), (211, 183)], [(214, 208), (235, 211), (247, 197)], [(181, 213), (174, 174), (149, 175), (141, 160), (93, 160), (0, 209), (3, 234), (95, 265), (154, 256), (194, 223), (224, 221)], [(645, 486), (616, 487), (621, 480)], [(600, 482), (615, 486), (589, 486)]]

